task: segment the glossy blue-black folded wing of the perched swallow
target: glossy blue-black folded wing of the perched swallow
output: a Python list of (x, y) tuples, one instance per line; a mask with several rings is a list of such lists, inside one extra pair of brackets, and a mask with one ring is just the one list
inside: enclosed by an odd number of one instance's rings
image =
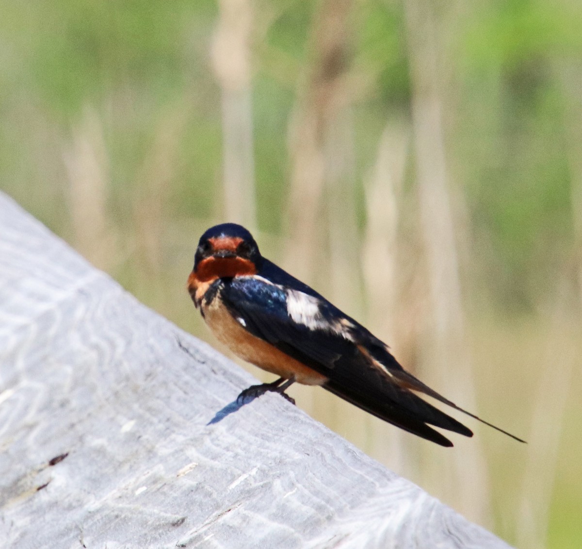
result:
[[(472, 435), (464, 425), (393, 382), (391, 375), (371, 360), (379, 360), (377, 355), (384, 360), (389, 357), (402, 371), (386, 346), (313, 290), (308, 295), (317, 298), (318, 322), (290, 318), (288, 288), (255, 277), (235, 277), (224, 281), (220, 294), (231, 314), (242, 318), (250, 333), (325, 375), (328, 382), (324, 387), (336, 395), (438, 444), (448, 446), (450, 441), (425, 423)], [(302, 291), (300, 286), (291, 288)]]

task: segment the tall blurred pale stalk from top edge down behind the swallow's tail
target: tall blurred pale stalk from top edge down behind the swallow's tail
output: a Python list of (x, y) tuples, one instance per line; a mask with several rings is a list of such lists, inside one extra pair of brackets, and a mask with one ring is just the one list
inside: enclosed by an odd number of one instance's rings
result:
[[(413, 84), (413, 128), (416, 150), (417, 185), (430, 285), (432, 341), (424, 349), (427, 367), (424, 379), (441, 389), (453, 402), (476, 409), (469, 350), (464, 337), (459, 261), (455, 223), (450, 207), (448, 173), (445, 161), (445, 132), (439, 81), (437, 24), (430, 3), (406, 2), (407, 35), (411, 81)], [(437, 378), (428, 375), (439, 372)], [(432, 377), (432, 379), (431, 379)], [(485, 457), (477, 439), (463, 455), (451, 452), (442, 456), (429, 449), (425, 471), (437, 493), (463, 514), (488, 525), (489, 482)]]

